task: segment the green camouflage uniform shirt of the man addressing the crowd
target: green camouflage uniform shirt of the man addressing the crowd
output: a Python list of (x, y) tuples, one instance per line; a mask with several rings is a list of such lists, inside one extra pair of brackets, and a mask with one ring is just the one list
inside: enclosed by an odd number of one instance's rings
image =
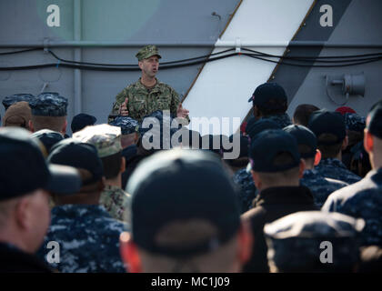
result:
[(179, 97), (172, 87), (156, 79), (156, 85), (152, 89), (147, 89), (139, 78), (136, 83), (128, 85), (116, 95), (116, 102), (108, 118), (109, 123), (119, 115), (119, 107), (125, 102), (126, 97), (128, 115), (138, 122), (142, 122), (144, 116), (156, 110), (170, 110), (171, 114), (176, 115), (179, 105)]

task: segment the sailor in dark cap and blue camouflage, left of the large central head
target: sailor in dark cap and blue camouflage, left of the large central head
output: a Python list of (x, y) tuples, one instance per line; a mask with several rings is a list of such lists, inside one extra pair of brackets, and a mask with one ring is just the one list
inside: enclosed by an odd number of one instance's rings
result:
[(47, 160), (77, 168), (83, 186), (73, 195), (54, 196), (52, 223), (39, 256), (45, 257), (47, 243), (55, 241), (60, 246), (60, 262), (51, 266), (61, 272), (124, 272), (118, 240), (126, 225), (98, 204), (104, 172), (95, 146), (67, 138), (52, 147)]

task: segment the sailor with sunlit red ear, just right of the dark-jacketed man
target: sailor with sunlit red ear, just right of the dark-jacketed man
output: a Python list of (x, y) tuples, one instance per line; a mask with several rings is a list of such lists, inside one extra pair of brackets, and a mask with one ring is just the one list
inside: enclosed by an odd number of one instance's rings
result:
[(298, 151), (301, 158), (305, 160), (306, 170), (300, 179), (300, 185), (310, 189), (317, 207), (321, 208), (327, 196), (347, 186), (347, 183), (321, 176), (317, 172), (314, 166), (319, 163), (321, 152), (317, 150), (317, 137), (312, 131), (303, 125), (289, 125), (284, 128), (284, 131), (296, 137)]

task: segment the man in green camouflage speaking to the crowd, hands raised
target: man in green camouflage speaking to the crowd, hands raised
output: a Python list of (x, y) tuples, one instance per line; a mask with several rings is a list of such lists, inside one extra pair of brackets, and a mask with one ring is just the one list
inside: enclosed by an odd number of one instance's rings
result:
[(116, 95), (108, 123), (118, 115), (129, 115), (142, 122), (145, 115), (156, 110), (170, 110), (174, 117), (187, 117), (188, 110), (182, 107), (176, 91), (156, 79), (161, 57), (155, 45), (146, 45), (136, 54), (142, 75)]

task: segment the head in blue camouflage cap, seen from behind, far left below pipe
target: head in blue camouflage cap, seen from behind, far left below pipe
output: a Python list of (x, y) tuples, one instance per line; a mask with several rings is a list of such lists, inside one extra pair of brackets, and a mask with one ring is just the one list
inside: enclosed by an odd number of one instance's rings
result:
[(29, 128), (32, 132), (50, 129), (62, 135), (66, 133), (67, 98), (55, 92), (44, 92), (30, 103), (32, 119)]

